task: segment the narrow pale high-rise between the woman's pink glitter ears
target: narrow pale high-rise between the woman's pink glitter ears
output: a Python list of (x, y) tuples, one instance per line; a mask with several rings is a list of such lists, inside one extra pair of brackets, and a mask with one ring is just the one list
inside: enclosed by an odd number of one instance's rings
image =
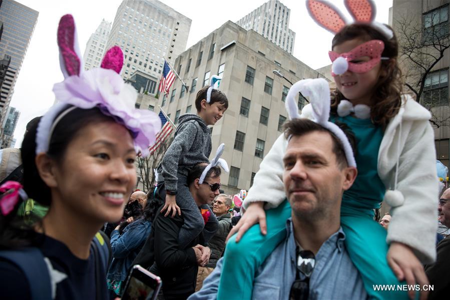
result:
[(100, 67), (110, 32), (111, 22), (105, 21), (104, 19), (99, 27), (97, 27), (95, 33), (89, 38), (88, 43), (86, 43), (85, 54), (83, 55), (86, 71)]

